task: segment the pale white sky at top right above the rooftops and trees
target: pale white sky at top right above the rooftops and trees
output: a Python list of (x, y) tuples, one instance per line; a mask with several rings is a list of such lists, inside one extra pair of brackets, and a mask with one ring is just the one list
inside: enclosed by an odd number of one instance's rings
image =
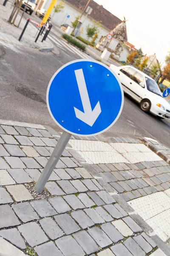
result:
[[(164, 66), (170, 51), (170, 0), (94, 0), (119, 19), (127, 20), (128, 42)], [(89, 4), (90, 6), (90, 4)]]

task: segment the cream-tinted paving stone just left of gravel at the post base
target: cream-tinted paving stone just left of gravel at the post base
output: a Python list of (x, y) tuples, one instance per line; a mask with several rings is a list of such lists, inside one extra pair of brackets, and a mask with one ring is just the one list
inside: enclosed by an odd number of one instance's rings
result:
[(17, 202), (33, 199), (30, 192), (26, 189), (26, 187), (23, 184), (6, 186), (6, 189)]

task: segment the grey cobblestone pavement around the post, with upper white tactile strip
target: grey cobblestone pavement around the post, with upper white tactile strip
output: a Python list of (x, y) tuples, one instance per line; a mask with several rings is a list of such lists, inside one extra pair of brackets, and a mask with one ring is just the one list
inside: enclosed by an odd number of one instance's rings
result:
[(0, 120), (1, 255), (169, 256), (169, 245), (126, 201), (168, 193), (170, 166), (138, 140), (71, 137), (37, 194), (60, 135)]

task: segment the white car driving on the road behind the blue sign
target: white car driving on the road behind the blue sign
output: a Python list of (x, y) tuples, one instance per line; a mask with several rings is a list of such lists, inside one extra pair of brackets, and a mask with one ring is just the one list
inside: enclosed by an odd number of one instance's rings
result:
[(132, 66), (111, 64), (110, 68), (119, 77), (124, 92), (139, 102), (142, 111), (170, 120), (170, 104), (163, 98), (155, 80)]

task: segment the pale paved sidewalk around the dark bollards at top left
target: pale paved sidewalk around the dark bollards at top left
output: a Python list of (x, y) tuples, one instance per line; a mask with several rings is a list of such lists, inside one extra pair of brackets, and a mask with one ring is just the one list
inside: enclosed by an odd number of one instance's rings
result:
[[(51, 41), (47, 38), (43, 43), (41, 42), (42, 36), (39, 37), (37, 43), (35, 43), (35, 35), (37, 33), (37, 28), (28, 23), (26, 31), (24, 32), (23, 38), (21, 41), (18, 41), (20, 34), (26, 24), (26, 19), (23, 17), (20, 23), (20, 27), (7, 22), (9, 16), (11, 15), (12, 9), (11, 2), (7, 2), (6, 6), (3, 6), (3, 0), (0, 0), (0, 43), (1, 44), (12, 44), (16, 46), (31, 47), (37, 48), (41, 51), (50, 51), (53, 49)], [(21, 13), (18, 14), (15, 24), (18, 24), (20, 21)], [(31, 19), (31, 16), (30, 16)]]

